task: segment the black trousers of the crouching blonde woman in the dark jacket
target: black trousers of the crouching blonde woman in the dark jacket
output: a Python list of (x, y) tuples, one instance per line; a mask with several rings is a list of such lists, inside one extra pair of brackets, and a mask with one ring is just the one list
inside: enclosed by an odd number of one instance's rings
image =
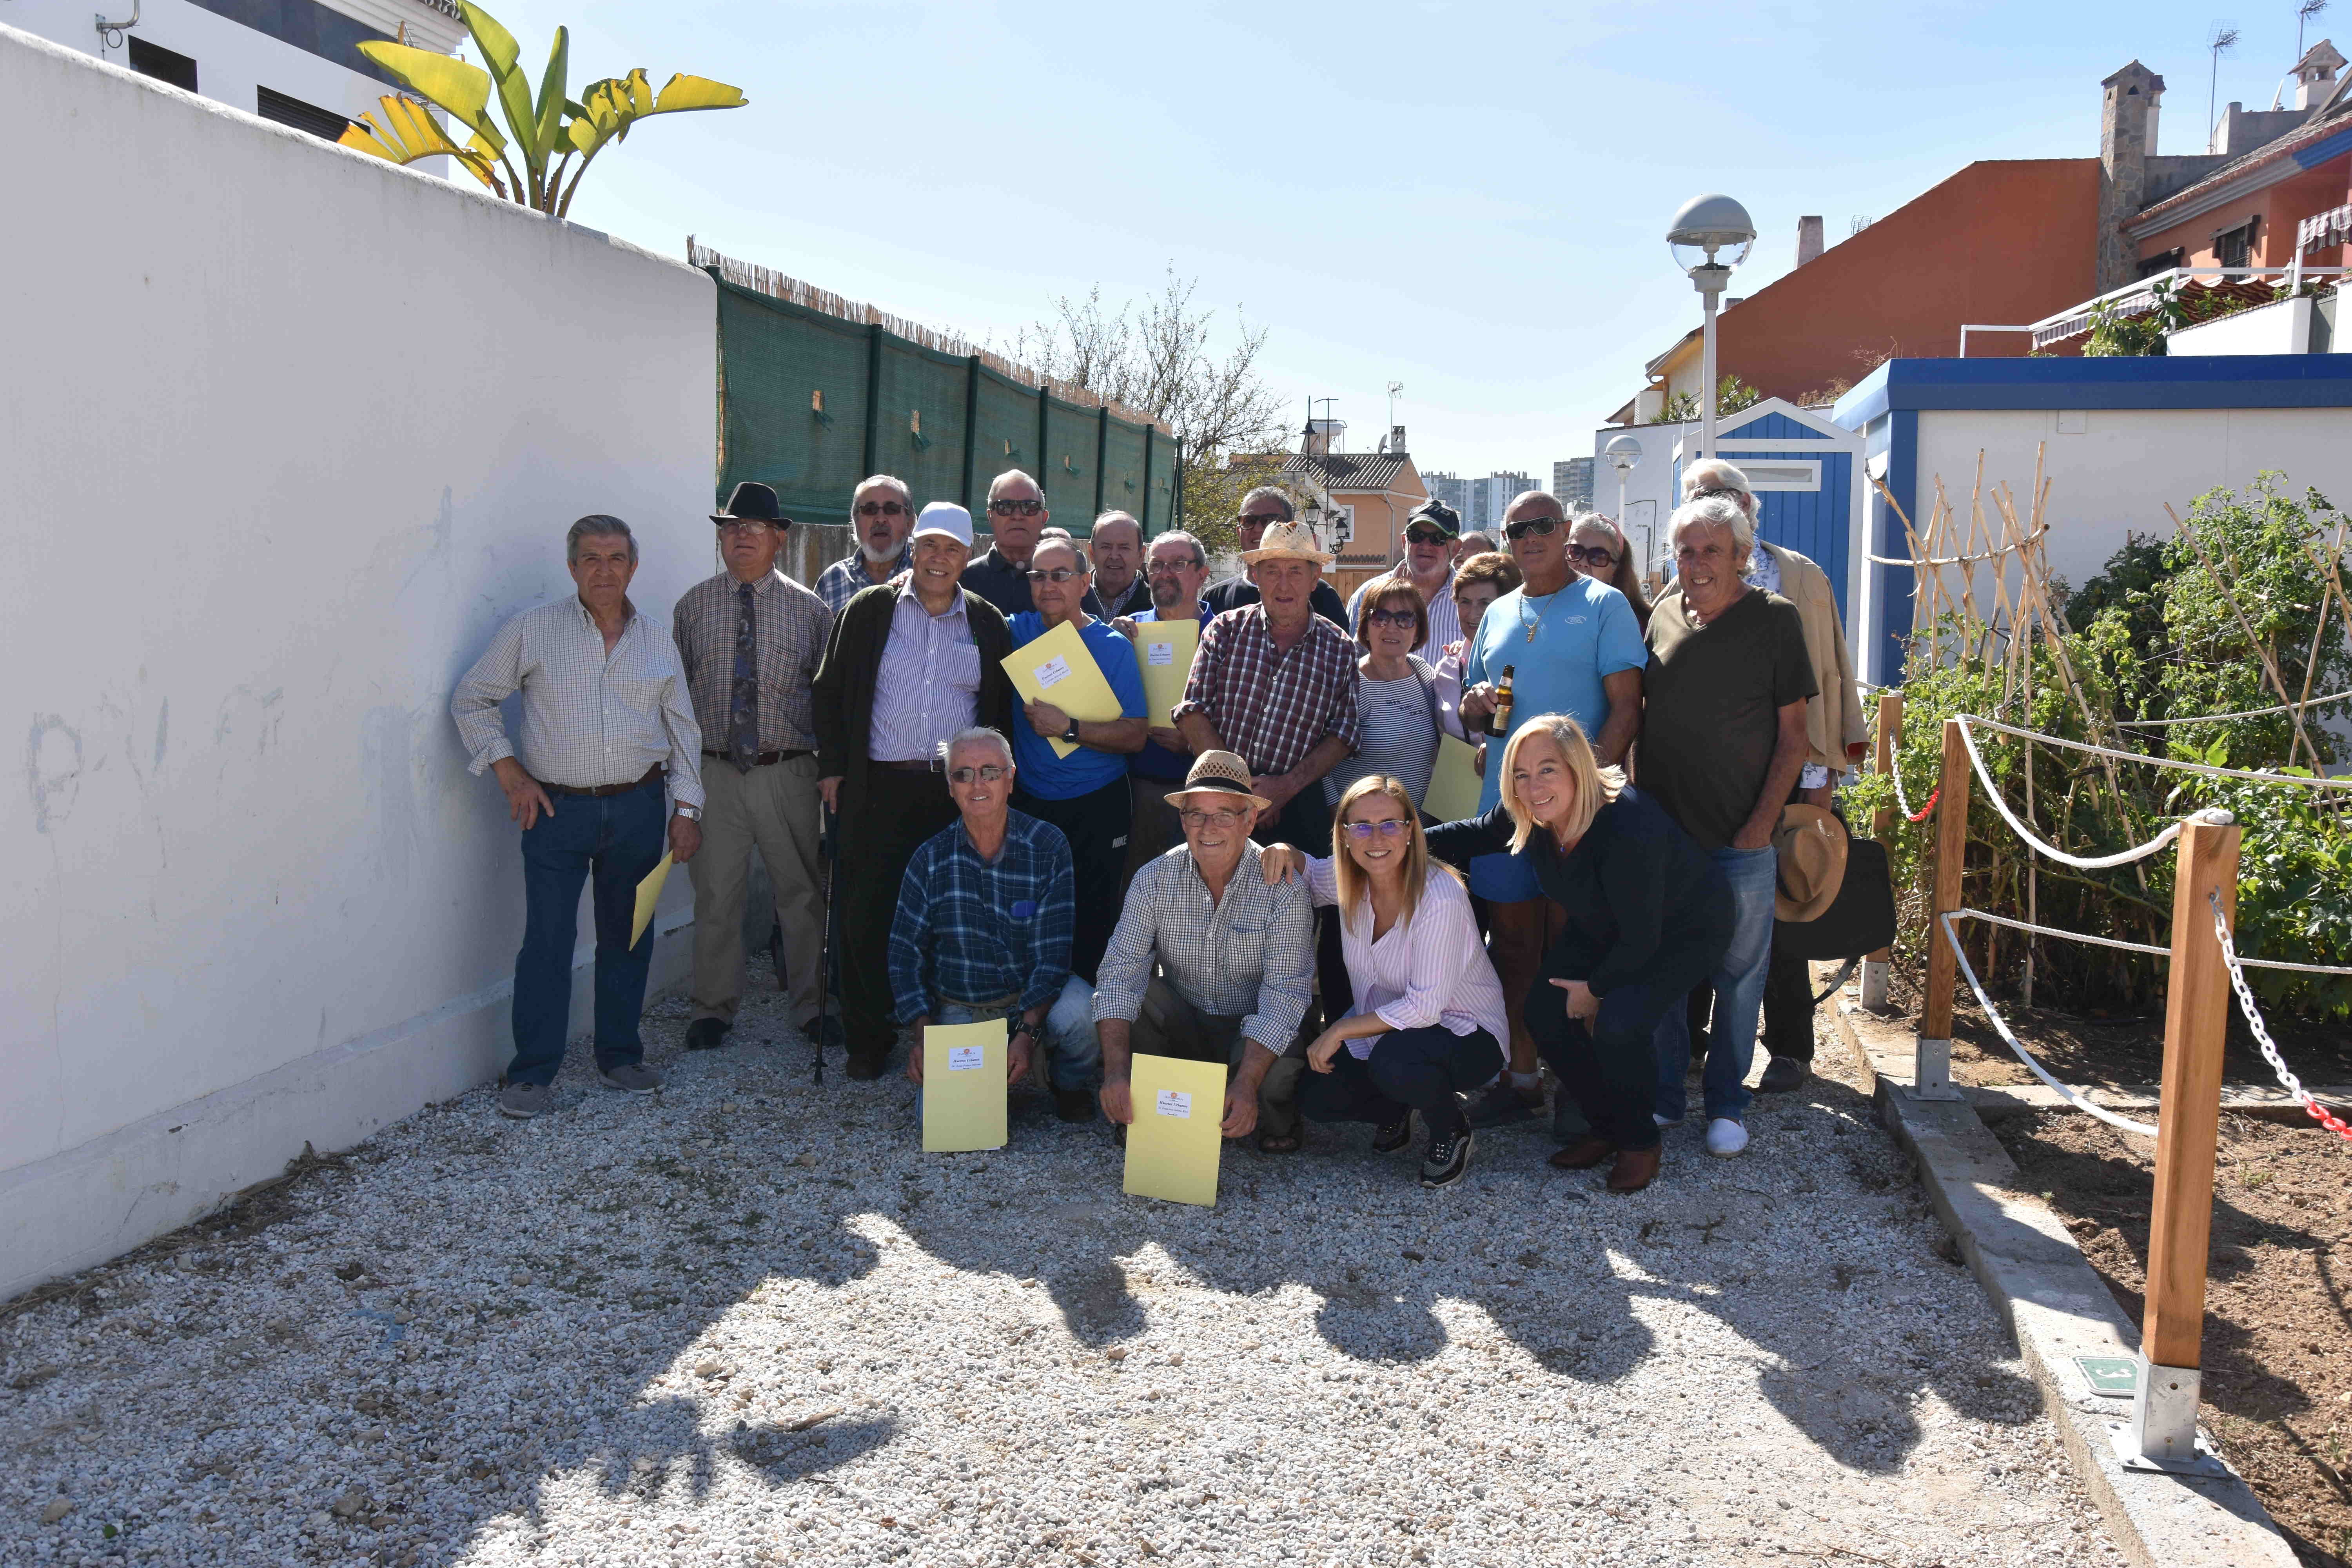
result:
[[(1526, 990), (1526, 1030), (1536, 1037), (1536, 1056), (1559, 1074), (1597, 1138), (1621, 1150), (1658, 1147), (1658, 1046), (1651, 1037), (1668, 1009), (1684, 1006), (1691, 987), (1715, 973), (1724, 957), (1726, 929), (1670, 938), (1649, 961), (1639, 980), (1628, 980), (1602, 997), (1602, 1011), (1590, 1020), (1569, 1018), (1569, 994), (1552, 978), (1566, 973), (1557, 954)], [(1578, 966), (1581, 969), (1581, 966)]]

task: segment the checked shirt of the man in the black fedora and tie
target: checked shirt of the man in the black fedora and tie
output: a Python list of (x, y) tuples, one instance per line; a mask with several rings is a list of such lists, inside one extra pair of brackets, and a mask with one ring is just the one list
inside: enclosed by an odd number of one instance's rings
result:
[[(694, 719), (703, 743), (727, 750), (727, 710), (734, 705), (736, 581), (703, 578), (677, 599), (677, 656), (687, 663)], [(769, 571), (750, 585), (750, 635), (760, 689), (760, 750), (814, 752), (816, 712), (809, 684), (826, 658), (833, 611), (814, 592)]]

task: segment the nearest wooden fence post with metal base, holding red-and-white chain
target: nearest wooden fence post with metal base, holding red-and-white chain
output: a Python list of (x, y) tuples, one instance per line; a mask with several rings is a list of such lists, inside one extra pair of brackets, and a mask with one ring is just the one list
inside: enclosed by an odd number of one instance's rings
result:
[(2234, 823), (2190, 818), (2173, 870), (2173, 964), (2164, 987), (2164, 1088), (2157, 1110), (2157, 1204), (2147, 1222), (2147, 1316), (2140, 1387), (2117, 1434), (2126, 1462), (2204, 1469), (2197, 1453), (2199, 1340), (2213, 1237), (2213, 1145), (2220, 1058), (2230, 1030), (2230, 966), (2213, 936), (2213, 893), (2237, 924)]

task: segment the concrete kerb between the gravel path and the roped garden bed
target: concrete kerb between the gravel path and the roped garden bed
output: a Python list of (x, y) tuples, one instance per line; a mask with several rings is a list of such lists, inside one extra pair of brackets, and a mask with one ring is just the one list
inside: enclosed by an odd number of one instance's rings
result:
[(1915, 1100), (1915, 1034), (1837, 997), (1837, 1034), (1870, 1077), (1879, 1119), (1910, 1150), (1936, 1215), (2016, 1338), (2067, 1458), (2138, 1568), (2293, 1568), (2296, 1554), (2239, 1476), (2126, 1472), (2112, 1427), (2129, 1399), (2096, 1394), (2074, 1356), (2133, 1356), (2140, 1331), (1976, 1107)]

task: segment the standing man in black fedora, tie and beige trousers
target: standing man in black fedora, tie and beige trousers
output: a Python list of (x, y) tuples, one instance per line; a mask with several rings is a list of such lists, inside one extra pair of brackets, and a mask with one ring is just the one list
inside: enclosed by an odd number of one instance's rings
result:
[(743, 1001), (743, 896), (750, 851), (767, 863), (783, 931), (793, 1023), (818, 1032), (816, 966), (826, 910), (818, 893), (816, 717), (809, 689), (833, 635), (833, 611), (776, 571), (793, 520), (767, 484), (736, 484), (710, 512), (724, 571), (677, 599), (677, 656), (703, 726), (703, 849), (694, 860), (694, 1020), (687, 1048), (727, 1039)]

